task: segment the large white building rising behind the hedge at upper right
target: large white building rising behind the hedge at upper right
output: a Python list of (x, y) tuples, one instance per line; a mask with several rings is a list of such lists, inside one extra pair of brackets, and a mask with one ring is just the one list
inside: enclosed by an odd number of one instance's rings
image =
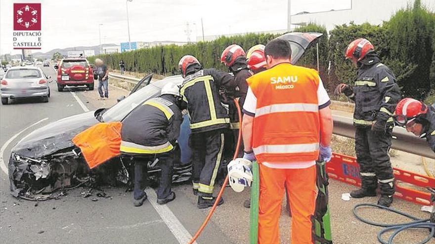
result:
[[(435, 12), (435, 0), (421, 0), (421, 2), (430, 11)], [(414, 0), (350, 0), (349, 9), (315, 13), (302, 12), (292, 15), (292, 24), (315, 23), (324, 25), (328, 32), (336, 25), (349, 24), (351, 21), (357, 25), (366, 22), (380, 25), (383, 21), (388, 21), (397, 10), (413, 3)]]

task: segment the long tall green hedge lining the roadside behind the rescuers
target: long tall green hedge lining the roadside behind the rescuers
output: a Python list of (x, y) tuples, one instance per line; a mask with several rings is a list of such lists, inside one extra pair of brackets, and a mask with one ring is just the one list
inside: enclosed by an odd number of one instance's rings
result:
[[(424, 99), (435, 89), (435, 15), (420, 5), (399, 10), (391, 20), (382, 25), (340, 25), (329, 33), (322, 26), (309, 24), (295, 32), (320, 32), (324, 35), (319, 40), (319, 72), (328, 91), (339, 83), (351, 84), (356, 79), (356, 67), (344, 57), (348, 43), (364, 37), (375, 45), (375, 51), (382, 62), (394, 72), (397, 83), (404, 96)], [(198, 42), (184, 46), (156, 46), (125, 53), (99, 55), (106, 64), (118, 69), (121, 59), (127, 70), (136, 72), (153, 72), (164, 75), (178, 74), (178, 61), (186, 54), (194, 55), (206, 68), (226, 70), (220, 64), (220, 54), (230, 44), (239, 44), (245, 50), (278, 35), (247, 34), (220, 37), (214, 41)], [(90, 57), (93, 62), (96, 58)], [(299, 61), (299, 65), (317, 68), (315, 48), (310, 48)]]

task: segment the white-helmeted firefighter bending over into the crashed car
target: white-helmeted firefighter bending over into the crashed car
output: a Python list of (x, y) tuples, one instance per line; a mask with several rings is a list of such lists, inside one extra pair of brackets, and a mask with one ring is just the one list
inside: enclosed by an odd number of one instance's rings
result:
[(146, 200), (148, 162), (161, 169), (157, 188), (157, 203), (166, 204), (175, 199), (171, 191), (175, 141), (180, 133), (182, 101), (179, 87), (166, 84), (160, 97), (152, 98), (135, 108), (122, 122), (121, 147), (123, 155), (132, 156), (134, 164), (133, 205)]

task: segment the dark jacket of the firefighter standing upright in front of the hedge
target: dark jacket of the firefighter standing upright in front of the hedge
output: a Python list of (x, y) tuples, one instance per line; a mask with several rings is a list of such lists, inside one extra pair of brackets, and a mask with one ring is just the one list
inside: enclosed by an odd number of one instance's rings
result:
[(380, 63), (377, 56), (370, 56), (358, 70), (353, 94), (348, 96), (355, 102), (353, 124), (371, 126), (376, 120), (387, 121), (392, 126), (392, 114), (400, 100), (400, 89), (392, 71)]

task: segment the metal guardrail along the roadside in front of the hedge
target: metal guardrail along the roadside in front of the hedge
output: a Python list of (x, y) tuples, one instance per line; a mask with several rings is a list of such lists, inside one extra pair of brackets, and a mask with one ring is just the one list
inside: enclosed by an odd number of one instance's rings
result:
[[(140, 79), (117, 73), (109, 73), (109, 77), (136, 84)], [(355, 127), (353, 118), (333, 115), (334, 134), (355, 139)], [(435, 159), (435, 153), (431, 150), (425, 139), (420, 139), (412, 133), (408, 133), (404, 128), (395, 127), (393, 129), (392, 148), (412, 154), (421, 155)]]

